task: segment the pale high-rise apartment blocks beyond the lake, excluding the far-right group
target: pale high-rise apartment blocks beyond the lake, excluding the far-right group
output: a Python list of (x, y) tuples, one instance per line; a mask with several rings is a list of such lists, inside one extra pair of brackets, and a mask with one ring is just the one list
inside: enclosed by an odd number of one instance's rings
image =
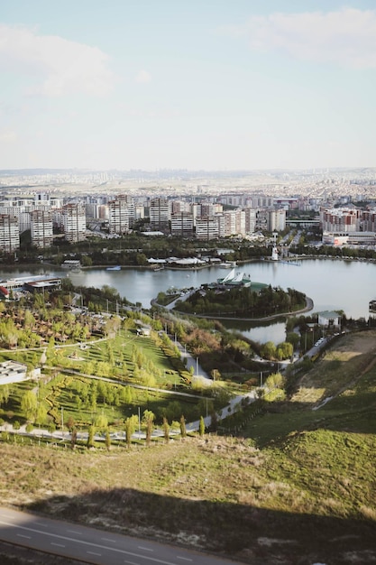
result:
[[(272, 199), (265, 200), (271, 205)], [(50, 247), (54, 238), (61, 236), (70, 243), (82, 241), (89, 233), (89, 225), (97, 233), (122, 236), (143, 218), (149, 218), (150, 230), (197, 239), (245, 236), (253, 233), (258, 223), (270, 231), (286, 226), (283, 208), (224, 208), (222, 202), (214, 199), (137, 199), (117, 195), (66, 202), (48, 193), (23, 198), (8, 196), (0, 201), (0, 249), (6, 253), (17, 250), (20, 235), (26, 230), (31, 231), (32, 245), (39, 248)]]

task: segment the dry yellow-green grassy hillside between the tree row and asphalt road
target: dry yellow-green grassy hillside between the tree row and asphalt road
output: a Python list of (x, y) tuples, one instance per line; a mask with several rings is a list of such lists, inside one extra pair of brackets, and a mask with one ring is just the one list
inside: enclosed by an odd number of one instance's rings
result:
[(374, 333), (338, 341), (243, 438), (109, 453), (0, 442), (0, 500), (252, 564), (370, 563), (375, 345)]

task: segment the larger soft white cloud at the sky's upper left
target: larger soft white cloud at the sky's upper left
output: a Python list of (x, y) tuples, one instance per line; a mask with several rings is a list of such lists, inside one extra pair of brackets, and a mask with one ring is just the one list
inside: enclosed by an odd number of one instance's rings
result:
[(103, 51), (55, 35), (0, 25), (0, 69), (32, 76), (29, 94), (104, 96), (114, 87)]

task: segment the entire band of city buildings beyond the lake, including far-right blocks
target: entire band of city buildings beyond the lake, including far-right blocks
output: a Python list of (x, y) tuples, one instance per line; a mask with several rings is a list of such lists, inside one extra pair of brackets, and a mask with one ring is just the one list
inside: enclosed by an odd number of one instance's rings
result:
[[(345, 202), (345, 201), (344, 201)], [(201, 240), (249, 236), (259, 230), (280, 232), (289, 224), (289, 209), (315, 211), (323, 242), (331, 245), (375, 244), (376, 206), (356, 208), (346, 202), (309, 197), (271, 197), (257, 193), (217, 196), (152, 197), (151, 195), (56, 196), (54, 192), (30, 195), (4, 194), (0, 199), (0, 251), (13, 253), (20, 235), (30, 230), (32, 245), (47, 248), (63, 237), (70, 243), (88, 234), (122, 236), (142, 220), (144, 229), (164, 235)]]

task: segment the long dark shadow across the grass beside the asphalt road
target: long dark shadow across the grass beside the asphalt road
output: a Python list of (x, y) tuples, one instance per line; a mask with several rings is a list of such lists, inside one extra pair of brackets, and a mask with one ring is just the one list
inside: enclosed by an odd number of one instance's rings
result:
[(376, 560), (371, 520), (293, 514), (126, 488), (52, 496), (23, 509), (160, 542), (183, 541), (194, 549), (252, 564), (339, 565)]

